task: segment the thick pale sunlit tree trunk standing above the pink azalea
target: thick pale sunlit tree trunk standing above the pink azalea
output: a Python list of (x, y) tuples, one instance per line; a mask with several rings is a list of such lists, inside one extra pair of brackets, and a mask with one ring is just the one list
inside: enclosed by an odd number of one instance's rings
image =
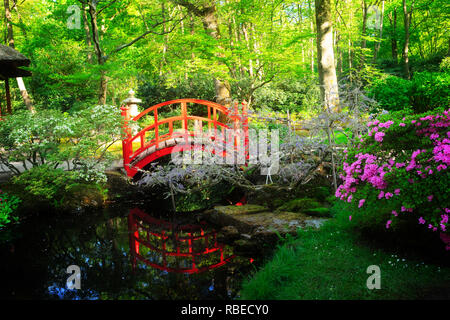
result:
[(317, 60), (322, 101), (328, 110), (339, 107), (338, 86), (333, 51), (333, 27), (330, 0), (315, 0)]

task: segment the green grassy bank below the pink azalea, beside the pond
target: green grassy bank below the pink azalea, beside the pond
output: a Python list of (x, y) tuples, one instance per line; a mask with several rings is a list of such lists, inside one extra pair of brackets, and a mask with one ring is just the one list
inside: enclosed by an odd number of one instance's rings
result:
[[(381, 289), (369, 290), (367, 267), (381, 270)], [(449, 299), (450, 268), (363, 245), (330, 220), (300, 230), (271, 261), (243, 283), (241, 299)]]

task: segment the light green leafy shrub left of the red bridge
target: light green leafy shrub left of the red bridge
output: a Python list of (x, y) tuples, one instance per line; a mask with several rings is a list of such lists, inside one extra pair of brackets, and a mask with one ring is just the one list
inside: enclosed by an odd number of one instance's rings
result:
[(86, 181), (105, 181), (103, 169), (112, 160), (108, 148), (121, 139), (118, 108), (95, 106), (75, 112), (21, 111), (0, 121), (0, 162), (13, 173), (17, 163), (28, 169), (48, 164), (79, 169)]

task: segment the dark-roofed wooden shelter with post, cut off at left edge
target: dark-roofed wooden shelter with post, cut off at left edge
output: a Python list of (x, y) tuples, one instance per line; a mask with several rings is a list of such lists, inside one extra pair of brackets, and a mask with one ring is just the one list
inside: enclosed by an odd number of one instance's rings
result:
[[(30, 59), (25, 57), (19, 51), (0, 44), (0, 80), (5, 81), (6, 91), (6, 110), (11, 113), (11, 94), (9, 90), (9, 78), (29, 77), (30, 71), (22, 70), (20, 67), (28, 66)], [(0, 117), (1, 117), (0, 104)]]

